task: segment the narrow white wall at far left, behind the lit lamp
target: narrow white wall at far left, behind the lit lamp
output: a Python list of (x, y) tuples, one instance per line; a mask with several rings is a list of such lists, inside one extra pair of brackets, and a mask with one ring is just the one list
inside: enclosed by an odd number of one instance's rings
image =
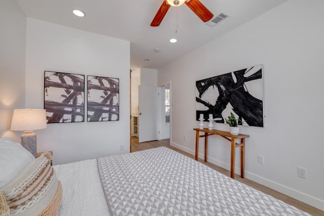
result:
[(26, 16), (16, 1), (0, 1), (0, 137), (20, 143), (10, 131), (13, 110), (25, 108)]

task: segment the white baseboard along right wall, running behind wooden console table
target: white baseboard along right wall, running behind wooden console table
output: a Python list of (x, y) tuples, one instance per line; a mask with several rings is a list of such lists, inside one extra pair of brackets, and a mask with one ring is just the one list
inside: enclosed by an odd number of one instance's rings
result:
[[(192, 150), (192, 149), (189, 149), (189, 148), (186, 148), (186, 147), (183, 147), (179, 144), (176, 144), (174, 142), (171, 142), (170, 143), (171, 146), (173, 147), (176, 147), (182, 151), (185, 151), (189, 154), (192, 154), (192, 155), (195, 155), (195, 151)], [(201, 154), (199, 153), (198, 154), (198, 157), (201, 158), (201, 159), (204, 159), (205, 156), (204, 154)], [(227, 170), (230, 170), (230, 164), (228, 163), (224, 163), (223, 161), (220, 161), (220, 160), (217, 160), (213, 157), (208, 157), (208, 161), (215, 164), (215, 165), (218, 165), (224, 169), (227, 169)], [(238, 174), (240, 175), (240, 168), (239, 167), (235, 167), (235, 174)], [(300, 191), (297, 191), (295, 189), (292, 189), (292, 188), (289, 188), (287, 186), (284, 186), (284, 185), (281, 185), (281, 184), (278, 184), (276, 182), (273, 182), (271, 180), (268, 180), (268, 179), (265, 179), (263, 177), (260, 177), (258, 175), (255, 175), (253, 174), (252, 172), (249, 172), (249, 171), (245, 171), (245, 177), (247, 179), (250, 179), (254, 182), (257, 182), (261, 185), (264, 185), (268, 188), (271, 188), (275, 191), (278, 191), (280, 193), (283, 193), (287, 196), (290, 196), (290, 197), (293, 197), (301, 202), (304, 202), (304, 203), (307, 203), (315, 208), (318, 208), (320, 210), (324, 210), (324, 200), (320, 200), (320, 199), (317, 199), (316, 197), (312, 197), (308, 194), (304, 194)]]

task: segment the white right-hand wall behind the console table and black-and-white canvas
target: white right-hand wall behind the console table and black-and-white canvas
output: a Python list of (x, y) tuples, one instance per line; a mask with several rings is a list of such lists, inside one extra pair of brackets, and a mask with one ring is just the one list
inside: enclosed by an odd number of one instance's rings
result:
[[(172, 80), (172, 145), (194, 153), (196, 80), (263, 64), (265, 127), (240, 127), (251, 136), (246, 178), (324, 210), (323, 8), (323, 1), (291, 0), (158, 70), (158, 84)], [(225, 139), (211, 136), (208, 152), (209, 161), (229, 169)], [(307, 169), (307, 179), (297, 177), (297, 166)]]

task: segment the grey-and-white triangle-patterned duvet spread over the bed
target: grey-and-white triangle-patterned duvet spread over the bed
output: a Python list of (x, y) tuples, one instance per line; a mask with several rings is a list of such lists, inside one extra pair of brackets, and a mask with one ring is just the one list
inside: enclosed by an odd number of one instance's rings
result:
[(166, 147), (97, 162), (113, 215), (309, 215)]

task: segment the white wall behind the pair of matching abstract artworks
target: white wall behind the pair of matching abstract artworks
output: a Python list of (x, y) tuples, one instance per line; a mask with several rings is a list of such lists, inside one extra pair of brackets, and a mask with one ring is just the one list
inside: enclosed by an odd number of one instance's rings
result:
[(37, 151), (53, 150), (53, 164), (129, 152), (130, 42), (31, 18), (26, 38), (26, 107), (44, 107), (45, 70), (119, 78), (119, 121), (48, 124)]

